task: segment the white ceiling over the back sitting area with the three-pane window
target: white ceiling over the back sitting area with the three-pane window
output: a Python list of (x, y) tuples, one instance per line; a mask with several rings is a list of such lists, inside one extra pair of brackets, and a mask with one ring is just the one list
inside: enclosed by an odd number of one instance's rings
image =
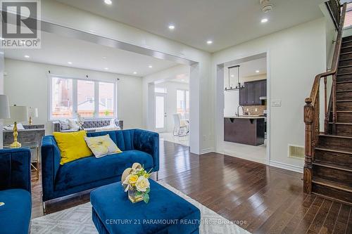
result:
[[(4, 49), (5, 58), (144, 77), (177, 63), (42, 32), (40, 49)], [(25, 58), (28, 55), (30, 58)], [(68, 64), (71, 62), (72, 65)], [(153, 68), (149, 68), (152, 65)], [(108, 70), (105, 68), (108, 67)], [(133, 74), (137, 72), (137, 74)]]

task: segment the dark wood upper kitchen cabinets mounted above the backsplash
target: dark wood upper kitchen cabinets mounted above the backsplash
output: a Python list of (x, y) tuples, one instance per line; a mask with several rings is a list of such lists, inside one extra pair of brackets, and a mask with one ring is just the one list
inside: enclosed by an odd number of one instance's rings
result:
[(245, 82), (239, 90), (239, 105), (262, 105), (260, 97), (266, 96), (266, 79)]

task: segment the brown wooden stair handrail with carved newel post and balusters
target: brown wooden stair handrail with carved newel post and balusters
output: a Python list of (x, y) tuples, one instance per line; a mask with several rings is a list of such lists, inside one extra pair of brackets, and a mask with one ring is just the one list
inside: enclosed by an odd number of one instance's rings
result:
[[(334, 6), (334, 4), (336, 6)], [(329, 4), (333, 6), (334, 9), (338, 11), (337, 13), (333, 13), (334, 20), (339, 20), (339, 29), (337, 32), (337, 40), (334, 47), (334, 57), (332, 58), (332, 68), (329, 72), (323, 72), (315, 76), (312, 90), (310, 91), (310, 96), (306, 98), (306, 105), (304, 106), (304, 122), (306, 124), (305, 128), (305, 161), (304, 161), (304, 169), (303, 169), (303, 191), (304, 193), (312, 192), (312, 176), (313, 176), (313, 160), (314, 160), (314, 150), (315, 146), (318, 145), (319, 134), (320, 134), (320, 81), (324, 78), (324, 112), (325, 112), (325, 134), (329, 131), (329, 112), (330, 108), (332, 108), (332, 131), (335, 131), (335, 123), (337, 120), (337, 98), (336, 98), (336, 86), (337, 86), (337, 70), (339, 67), (339, 58), (341, 53), (341, 45), (342, 45), (342, 32), (344, 30), (344, 20), (346, 16), (346, 8), (347, 4), (341, 6), (339, 1), (330, 0)], [(329, 103), (331, 105), (327, 105), (327, 77), (332, 76), (332, 91), (330, 95)]]

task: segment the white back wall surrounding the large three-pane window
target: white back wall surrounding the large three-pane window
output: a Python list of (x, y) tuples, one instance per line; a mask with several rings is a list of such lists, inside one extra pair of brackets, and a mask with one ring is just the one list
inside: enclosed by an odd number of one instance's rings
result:
[(38, 108), (39, 117), (34, 124), (46, 124), (47, 134), (52, 131), (48, 116), (48, 71), (51, 74), (68, 77), (116, 81), (118, 78), (118, 118), (124, 121), (125, 129), (142, 128), (142, 78), (121, 74), (82, 70), (44, 63), (31, 63), (21, 60), (5, 59), (5, 94), (10, 105), (26, 105)]

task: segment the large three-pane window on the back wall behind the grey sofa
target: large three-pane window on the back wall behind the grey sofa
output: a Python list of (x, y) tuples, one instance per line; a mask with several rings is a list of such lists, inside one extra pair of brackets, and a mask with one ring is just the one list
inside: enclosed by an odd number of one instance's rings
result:
[(116, 84), (51, 77), (50, 119), (115, 117)]

